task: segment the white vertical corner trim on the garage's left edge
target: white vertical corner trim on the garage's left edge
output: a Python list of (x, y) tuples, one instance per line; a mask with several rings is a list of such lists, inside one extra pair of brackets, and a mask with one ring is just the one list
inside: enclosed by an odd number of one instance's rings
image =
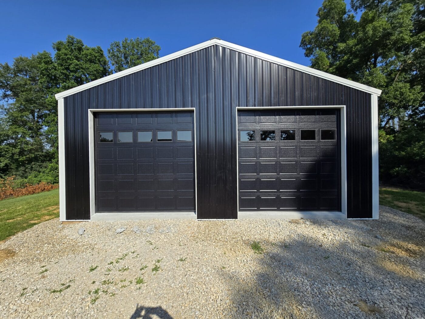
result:
[(57, 130), (59, 151), (59, 220), (66, 220), (65, 117), (63, 99), (57, 101)]

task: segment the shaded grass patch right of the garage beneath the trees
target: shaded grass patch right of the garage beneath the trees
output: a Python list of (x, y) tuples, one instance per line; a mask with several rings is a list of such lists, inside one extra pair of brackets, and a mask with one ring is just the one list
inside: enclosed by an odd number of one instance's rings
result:
[(380, 188), (379, 203), (425, 220), (425, 192)]

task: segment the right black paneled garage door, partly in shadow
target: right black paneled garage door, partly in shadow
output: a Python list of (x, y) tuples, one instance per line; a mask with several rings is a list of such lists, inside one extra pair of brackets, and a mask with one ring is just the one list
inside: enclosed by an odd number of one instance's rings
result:
[(240, 211), (340, 211), (340, 110), (238, 112)]

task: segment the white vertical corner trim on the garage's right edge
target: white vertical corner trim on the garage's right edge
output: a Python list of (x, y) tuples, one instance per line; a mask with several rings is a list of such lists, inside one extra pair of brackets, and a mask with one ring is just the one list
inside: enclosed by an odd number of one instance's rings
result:
[(372, 95), (372, 219), (379, 218), (378, 96)]

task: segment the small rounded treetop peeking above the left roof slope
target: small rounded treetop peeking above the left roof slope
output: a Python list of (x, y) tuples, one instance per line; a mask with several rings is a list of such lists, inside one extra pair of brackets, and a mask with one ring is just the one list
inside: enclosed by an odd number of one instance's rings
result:
[(114, 41), (108, 48), (108, 58), (114, 72), (138, 66), (159, 57), (161, 47), (149, 37), (141, 39), (125, 38), (121, 42)]

